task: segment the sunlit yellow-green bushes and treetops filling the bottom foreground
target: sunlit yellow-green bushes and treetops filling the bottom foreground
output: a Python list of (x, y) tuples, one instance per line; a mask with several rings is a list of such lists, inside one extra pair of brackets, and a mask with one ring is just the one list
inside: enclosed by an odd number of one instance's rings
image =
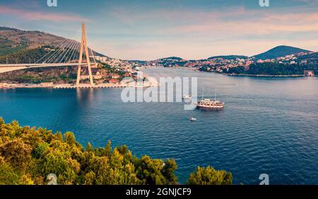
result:
[[(0, 118), (0, 184), (42, 185), (56, 174), (58, 184), (120, 185), (177, 183), (174, 159), (137, 158), (126, 146), (112, 149), (87, 147), (76, 142), (72, 132), (20, 127)], [(198, 168), (189, 184), (229, 184), (232, 175), (213, 168)]]

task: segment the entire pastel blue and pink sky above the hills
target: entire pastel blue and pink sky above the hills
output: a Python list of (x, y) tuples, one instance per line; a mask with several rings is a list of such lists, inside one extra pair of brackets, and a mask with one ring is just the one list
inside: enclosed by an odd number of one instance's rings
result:
[(0, 26), (72, 38), (120, 59), (257, 55), (276, 45), (318, 51), (318, 0), (0, 0)]

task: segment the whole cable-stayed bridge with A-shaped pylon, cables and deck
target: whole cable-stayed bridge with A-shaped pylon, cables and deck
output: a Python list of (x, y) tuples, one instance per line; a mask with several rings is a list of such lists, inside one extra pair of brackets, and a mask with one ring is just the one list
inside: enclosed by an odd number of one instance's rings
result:
[[(85, 23), (82, 23), (81, 28), (81, 43), (79, 43), (77, 34), (72, 40), (65, 39), (57, 45), (54, 50), (50, 50), (47, 55), (38, 59), (35, 63), (29, 64), (0, 64), (0, 73), (12, 72), (22, 69), (32, 69), (41, 67), (78, 67), (76, 86), (80, 86), (81, 81), (81, 67), (88, 67), (88, 75), (90, 79), (90, 86), (94, 86), (92, 67), (97, 67), (95, 62), (93, 50), (88, 48), (86, 39)], [(79, 55), (78, 53), (79, 52)], [(91, 52), (91, 54), (89, 54)], [(83, 55), (85, 53), (86, 62), (83, 62)], [(90, 62), (90, 55), (93, 57), (93, 62)]]

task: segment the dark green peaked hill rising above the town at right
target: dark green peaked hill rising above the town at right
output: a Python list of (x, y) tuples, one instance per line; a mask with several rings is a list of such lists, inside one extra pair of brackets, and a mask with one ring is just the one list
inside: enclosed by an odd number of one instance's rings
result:
[(272, 48), (269, 51), (255, 55), (255, 59), (275, 59), (277, 57), (285, 57), (286, 55), (298, 54), (300, 52), (311, 52), (309, 50), (303, 50), (298, 47), (291, 47), (286, 45), (280, 45)]

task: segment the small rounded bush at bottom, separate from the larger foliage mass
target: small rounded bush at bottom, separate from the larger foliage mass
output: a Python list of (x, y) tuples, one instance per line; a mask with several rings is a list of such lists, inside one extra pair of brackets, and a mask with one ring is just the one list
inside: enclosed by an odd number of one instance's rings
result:
[(187, 181), (189, 185), (231, 185), (232, 174), (226, 171), (216, 171), (213, 167), (198, 166), (196, 171), (190, 174)]

